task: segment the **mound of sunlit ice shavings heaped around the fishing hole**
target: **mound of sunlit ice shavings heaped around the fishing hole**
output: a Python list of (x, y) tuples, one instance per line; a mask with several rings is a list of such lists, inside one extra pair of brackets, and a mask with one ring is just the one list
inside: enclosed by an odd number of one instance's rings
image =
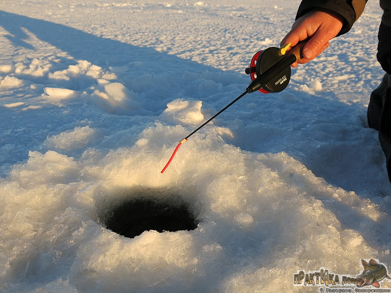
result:
[[(377, 229), (384, 215), (373, 203), (331, 187), (285, 153), (253, 154), (216, 142), (214, 127), (189, 141), (156, 184), (150, 166), (159, 166), (170, 150), (153, 142), (170, 128), (147, 128), (141, 137), (149, 143), (142, 148), (106, 156), (90, 150), (78, 161), (32, 152), (15, 167), (1, 183), (13, 194), (1, 207), (2, 246), (12, 251), (1, 260), (5, 283), (14, 290), (26, 283), (44, 289), (47, 280), (67, 276), (65, 288), (83, 292), (205, 292), (217, 284), (235, 292), (283, 291), (302, 267), (354, 271), (356, 259), (374, 253), (353, 227), (341, 227), (351, 215), (333, 213), (349, 205), (355, 225)], [(183, 136), (183, 129), (177, 132)], [(134, 239), (115, 234), (98, 214), (127, 187), (175, 190), (199, 209), (201, 223), (193, 231), (149, 231)], [(281, 281), (270, 284), (272, 277)]]

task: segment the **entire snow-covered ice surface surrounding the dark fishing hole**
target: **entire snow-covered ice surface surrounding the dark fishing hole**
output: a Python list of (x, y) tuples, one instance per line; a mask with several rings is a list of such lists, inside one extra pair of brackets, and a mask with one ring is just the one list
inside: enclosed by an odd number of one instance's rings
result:
[[(314, 292), (293, 274), (391, 265), (391, 188), (366, 122), (377, 1), (284, 91), (246, 95), (160, 173), (245, 90), (297, 5), (0, 1), (0, 291)], [(138, 194), (179, 196), (197, 228), (107, 229), (102, 215)]]

